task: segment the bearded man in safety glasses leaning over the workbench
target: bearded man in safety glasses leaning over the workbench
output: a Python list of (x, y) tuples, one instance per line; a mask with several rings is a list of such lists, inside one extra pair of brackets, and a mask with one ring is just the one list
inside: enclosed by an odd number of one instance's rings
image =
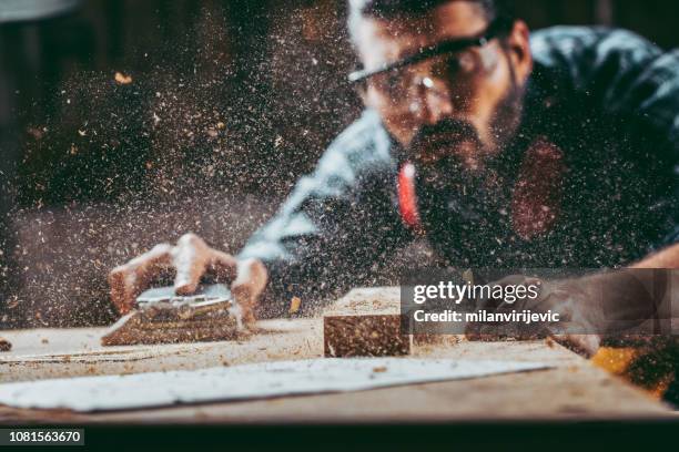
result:
[[(308, 308), (417, 237), (457, 268), (679, 265), (676, 52), (622, 30), (530, 33), (503, 0), (351, 0), (348, 28), (363, 115), (235, 257), (186, 235), (115, 268), (121, 311), (168, 266), (178, 294), (230, 278), (251, 318)], [(652, 315), (646, 281), (615, 278), (598, 304)], [(604, 280), (569, 292), (595, 329)]]

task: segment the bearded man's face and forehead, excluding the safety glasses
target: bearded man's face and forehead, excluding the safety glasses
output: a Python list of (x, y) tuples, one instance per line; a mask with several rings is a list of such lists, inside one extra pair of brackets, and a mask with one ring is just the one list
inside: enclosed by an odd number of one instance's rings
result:
[[(356, 40), (364, 68), (372, 70), (426, 47), (476, 37), (487, 27), (478, 4), (452, 0), (419, 17), (388, 21), (364, 17)], [(515, 28), (507, 41), (521, 31)], [(478, 176), (518, 126), (531, 65), (527, 29), (524, 38), (526, 42), (517, 45), (525, 49), (516, 54), (495, 39), (482, 48), (372, 76), (365, 83), (364, 101), (401, 143), (403, 160), (420, 167), (445, 161), (446, 166), (454, 164)]]

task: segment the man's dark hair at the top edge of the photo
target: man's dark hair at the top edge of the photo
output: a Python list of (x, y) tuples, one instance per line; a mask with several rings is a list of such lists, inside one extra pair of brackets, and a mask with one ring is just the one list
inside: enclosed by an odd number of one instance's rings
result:
[[(356, 40), (361, 18), (392, 20), (417, 17), (454, 0), (348, 0), (348, 29), (352, 40)], [(510, 24), (515, 21), (513, 0), (457, 0), (478, 4), (488, 22), (500, 20)]]

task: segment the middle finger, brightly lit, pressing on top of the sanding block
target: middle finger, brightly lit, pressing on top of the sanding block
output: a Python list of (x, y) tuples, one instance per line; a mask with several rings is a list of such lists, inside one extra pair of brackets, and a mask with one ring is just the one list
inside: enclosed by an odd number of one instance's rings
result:
[(210, 263), (211, 249), (195, 234), (185, 234), (172, 251), (172, 263), (176, 269), (174, 291), (178, 295), (193, 294)]

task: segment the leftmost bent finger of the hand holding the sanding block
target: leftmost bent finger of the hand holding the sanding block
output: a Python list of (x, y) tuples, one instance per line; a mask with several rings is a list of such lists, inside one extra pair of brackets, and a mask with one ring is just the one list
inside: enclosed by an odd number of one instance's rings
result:
[(156, 245), (150, 251), (111, 270), (109, 274), (111, 300), (120, 314), (129, 312), (134, 306), (136, 296), (145, 289), (149, 281), (170, 265), (171, 253), (171, 245)]

